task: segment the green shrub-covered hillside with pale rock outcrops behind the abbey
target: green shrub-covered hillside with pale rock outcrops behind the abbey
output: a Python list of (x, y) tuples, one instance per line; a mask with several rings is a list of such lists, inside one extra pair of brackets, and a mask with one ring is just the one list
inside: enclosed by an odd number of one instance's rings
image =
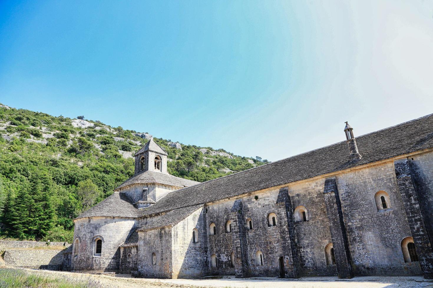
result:
[[(0, 104), (0, 238), (72, 241), (72, 219), (132, 176), (132, 157), (151, 135), (78, 118)], [(200, 182), (267, 163), (154, 140), (170, 174)]]

